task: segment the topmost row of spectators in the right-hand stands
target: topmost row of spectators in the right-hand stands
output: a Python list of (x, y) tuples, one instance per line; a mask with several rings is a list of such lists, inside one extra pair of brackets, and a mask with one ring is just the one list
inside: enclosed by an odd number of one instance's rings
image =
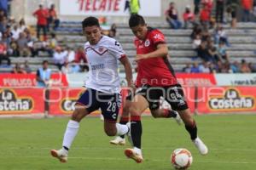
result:
[(189, 26), (194, 26), (198, 23), (202, 26), (210, 26), (210, 28), (216, 24), (230, 23), (235, 28), (237, 11), (240, 5), (242, 9), (241, 21), (256, 21), (255, 0), (216, 0), (215, 8), (213, 8), (213, 0), (194, 0), (194, 5), (194, 12), (191, 11), (189, 5), (184, 8), (182, 21), (178, 18), (175, 3), (170, 3), (165, 12), (167, 23), (173, 29), (187, 29)]

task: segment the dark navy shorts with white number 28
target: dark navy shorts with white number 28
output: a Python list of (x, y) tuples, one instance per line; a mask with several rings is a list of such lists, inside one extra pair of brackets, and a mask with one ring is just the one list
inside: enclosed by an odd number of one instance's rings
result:
[(109, 122), (116, 122), (119, 115), (121, 96), (120, 94), (106, 94), (87, 88), (78, 99), (77, 104), (85, 105), (87, 107), (86, 110), (89, 112), (101, 108), (104, 119)]

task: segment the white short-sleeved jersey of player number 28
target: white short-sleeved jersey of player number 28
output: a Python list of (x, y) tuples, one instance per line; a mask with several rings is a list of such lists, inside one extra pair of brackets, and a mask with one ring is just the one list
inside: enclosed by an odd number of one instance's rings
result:
[(96, 45), (86, 42), (84, 52), (89, 65), (89, 78), (85, 87), (108, 94), (119, 93), (118, 59), (125, 57), (119, 42), (103, 36)]

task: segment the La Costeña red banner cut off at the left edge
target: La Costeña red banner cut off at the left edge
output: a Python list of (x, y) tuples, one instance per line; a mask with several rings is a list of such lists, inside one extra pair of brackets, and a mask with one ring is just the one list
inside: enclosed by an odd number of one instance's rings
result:
[(0, 115), (44, 113), (43, 88), (0, 88)]

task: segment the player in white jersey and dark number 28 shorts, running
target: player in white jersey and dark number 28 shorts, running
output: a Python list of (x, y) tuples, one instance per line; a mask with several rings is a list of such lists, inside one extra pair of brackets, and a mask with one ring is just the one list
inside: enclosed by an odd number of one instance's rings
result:
[(104, 130), (108, 136), (124, 135), (130, 130), (127, 125), (116, 121), (121, 101), (118, 60), (124, 65), (126, 81), (132, 88), (131, 63), (119, 42), (102, 35), (95, 17), (85, 18), (82, 26), (88, 40), (84, 52), (89, 63), (89, 80), (85, 82), (86, 91), (78, 99), (71, 120), (67, 123), (61, 150), (50, 150), (50, 154), (61, 162), (67, 161), (68, 150), (79, 131), (79, 122), (92, 111), (102, 110)]

